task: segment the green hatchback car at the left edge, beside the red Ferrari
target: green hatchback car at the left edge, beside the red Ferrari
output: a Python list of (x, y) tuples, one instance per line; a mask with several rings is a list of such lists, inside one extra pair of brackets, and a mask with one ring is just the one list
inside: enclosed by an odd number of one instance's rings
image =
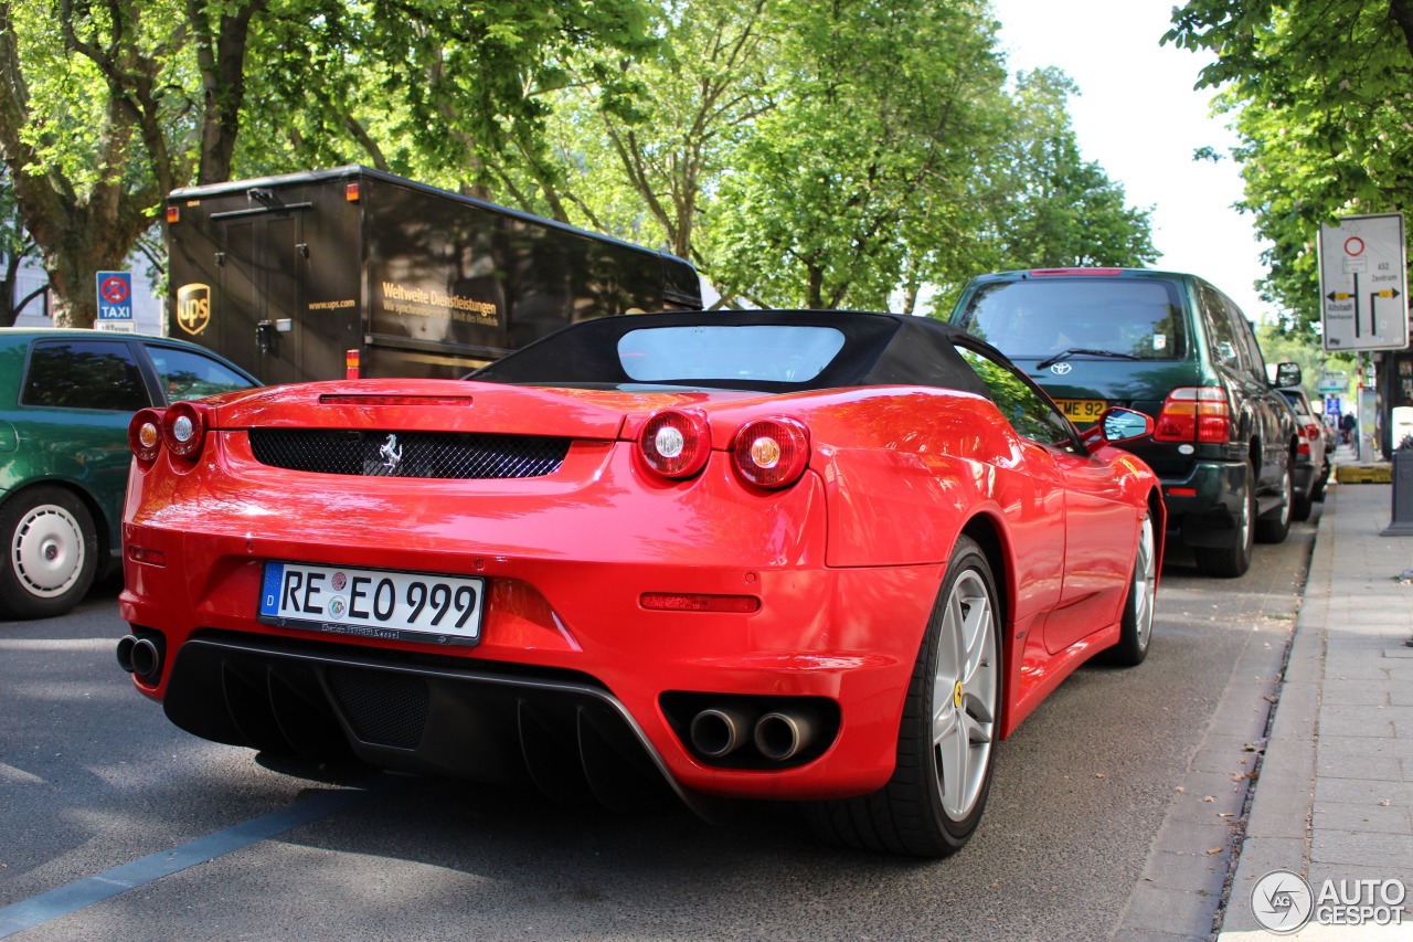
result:
[(184, 341), (0, 328), (0, 621), (62, 615), (119, 562), (134, 412), (259, 385)]

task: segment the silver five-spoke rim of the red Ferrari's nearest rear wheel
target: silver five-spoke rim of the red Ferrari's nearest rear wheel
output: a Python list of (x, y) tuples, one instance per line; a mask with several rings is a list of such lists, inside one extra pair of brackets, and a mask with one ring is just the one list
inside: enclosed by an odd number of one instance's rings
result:
[(962, 573), (942, 611), (933, 678), (934, 772), (952, 820), (972, 812), (986, 782), (1000, 690), (995, 618), (985, 580)]

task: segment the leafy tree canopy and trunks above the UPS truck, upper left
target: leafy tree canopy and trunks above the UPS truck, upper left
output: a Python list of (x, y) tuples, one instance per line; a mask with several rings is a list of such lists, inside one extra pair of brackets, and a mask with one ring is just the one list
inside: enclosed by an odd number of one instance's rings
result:
[[(487, 187), (504, 154), (552, 178), (540, 95), (564, 82), (560, 59), (647, 44), (649, 11), (640, 0), (0, 0), (0, 156), (55, 322), (93, 322), (93, 273), (119, 267), (162, 197), (192, 182), (343, 154), (465, 190)], [(455, 170), (418, 173), (431, 167)]]

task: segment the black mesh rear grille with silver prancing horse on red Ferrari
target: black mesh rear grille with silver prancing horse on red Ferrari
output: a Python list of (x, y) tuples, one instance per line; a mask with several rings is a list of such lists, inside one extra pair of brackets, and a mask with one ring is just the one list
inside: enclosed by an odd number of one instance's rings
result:
[(568, 438), (451, 431), (252, 429), (256, 460), (288, 471), (382, 478), (537, 478), (554, 474)]

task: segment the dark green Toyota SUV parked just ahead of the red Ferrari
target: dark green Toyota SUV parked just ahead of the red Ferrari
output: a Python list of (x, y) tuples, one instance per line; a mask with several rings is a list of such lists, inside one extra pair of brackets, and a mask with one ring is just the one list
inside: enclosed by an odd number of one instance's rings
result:
[(1125, 446), (1163, 481), (1169, 539), (1208, 576), (1241, 576), (1252, 543), (1286, 539), (1299, 431), (1251, 322), (1200, 277), (1135, 269), (1033, 269), (972, 279), (951, 318), (1000, 348), (1075, 424), (1108, 406), (1154, 419)]

